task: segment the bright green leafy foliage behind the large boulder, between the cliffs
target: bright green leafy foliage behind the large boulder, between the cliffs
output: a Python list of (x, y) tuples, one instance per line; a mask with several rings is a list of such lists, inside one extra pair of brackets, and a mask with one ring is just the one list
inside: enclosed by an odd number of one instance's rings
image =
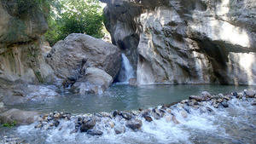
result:
[[(53, 45), (71, 33), (86, 33), (92, 37), (103, 37), (103, 14), (98, 0), (60, 0), (59, 13), (49, 19), (46, 40)], [(59, 6), (60, 6), (59, 5)]]

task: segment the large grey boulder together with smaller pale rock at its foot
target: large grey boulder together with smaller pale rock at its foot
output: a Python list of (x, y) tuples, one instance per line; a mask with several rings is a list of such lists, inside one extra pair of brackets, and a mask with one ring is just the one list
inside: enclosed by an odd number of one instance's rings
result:
[(56, 43), (47, 62), (65, 87), (77, 93), (104, 91), (121, 65), (119, 49), (111, 43), (85, 34), (73, 33)]

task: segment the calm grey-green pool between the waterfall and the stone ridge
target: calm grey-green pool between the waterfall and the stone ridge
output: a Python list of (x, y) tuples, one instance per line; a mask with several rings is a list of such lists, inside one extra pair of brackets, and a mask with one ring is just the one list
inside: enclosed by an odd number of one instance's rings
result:
[(125, 84), (113, 84), (104, 95), (73, 95), (68, 92), (60, 97), (43, 101), (29, 101), (24, 104), (8, 106), (22, 110), (72, 113), (110, 112), (113, 110), (134, 110), (156, 107), (161, 104), (188, 99), (189, 95), (200, 95), (207, 90), (211, 94), (229, 94), (233, 91), (252, 89), (255, 86), (233, 85), (146, 85), (133, 87)]

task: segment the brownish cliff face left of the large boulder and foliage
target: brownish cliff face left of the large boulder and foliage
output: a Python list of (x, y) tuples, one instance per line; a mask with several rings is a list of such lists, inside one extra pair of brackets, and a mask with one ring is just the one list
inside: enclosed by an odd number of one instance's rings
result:
[[(25, 1), (26, 2), (26, 1)], [(53, 74), (42, 55), (41, 36), (47, 31), (43, 9), (15, 0), (0, 1), (0, 84), (42, 83)], [(0, 86), (1, 87), (1, 86)]]

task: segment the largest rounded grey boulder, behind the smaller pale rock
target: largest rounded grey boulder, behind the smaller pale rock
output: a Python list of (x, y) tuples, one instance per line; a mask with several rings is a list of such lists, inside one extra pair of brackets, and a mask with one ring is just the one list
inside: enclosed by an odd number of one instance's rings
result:
[(115, 78), (121, 66), (121, 53), (102, 39), (73, 33), (55, 43), (46, 60), (63, 82), (75, 82), (87, 67), (102, 69)]

